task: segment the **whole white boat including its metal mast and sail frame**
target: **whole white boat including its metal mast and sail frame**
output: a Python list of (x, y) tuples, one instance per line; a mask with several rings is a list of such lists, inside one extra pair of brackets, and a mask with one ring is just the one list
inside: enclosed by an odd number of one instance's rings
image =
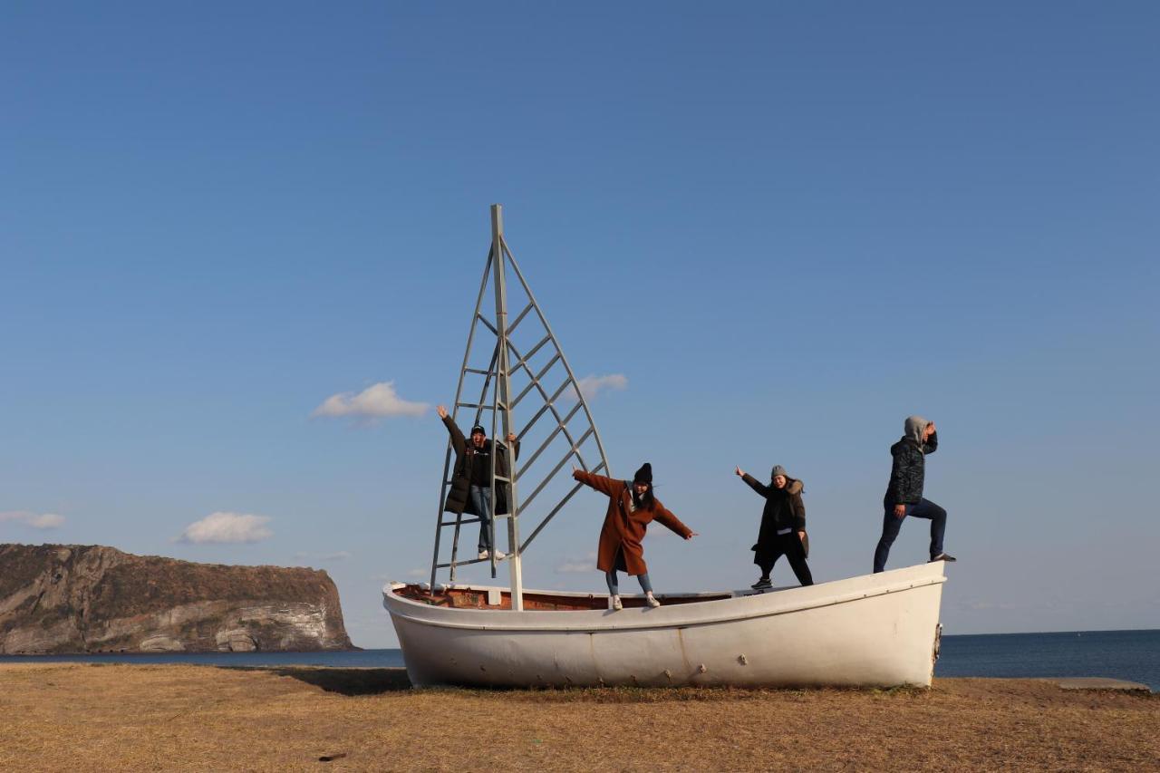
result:
[[(528, 297), (528, 305), (510, 324), (507, 266), (516, 273)], [(488, 284), (495, 290), (494, 323), (481, 313)], [(546, 335), (525, 348), (527, 354), (521, 354), (523, 347), (516, 347), (512, 333), (531, 311)], [(474, 367), (470, 361), (478, 324), (495, 335), (494, 347), (484, 349), (491, 356), (487, 368)], [(537, 352), (545, 353), (543, 367), (532, 364)], [(563, 368), (566, 377), (549, 392), (544, 384), (553, 367)], [(525, 385), (519, 389), (519, 380), (514, 377), (521, 371)], [(478, 403), (464, 403), (464, 382), (472, 375), (484, 378), (480, 398)], [(457, 568), (481, 562), (474, 559), (474, 551), (467, 559), (458, 559), (461, 529), (478, 519), (455, 513), (454, 520), (448, 520), (444, 513), (452, 461), (449, 447), (430, 583), (390, 583), (383, 588), (383, 605), (391, 614), (413, 685), (930, 685), (938, 656), (942, 584), (947, 579), (943, 562), (762, 593), (659, 595), (661, 606), (657, 608), (647, 607), (641, 597), (622, 595), (621, 611), (608, 608), (607, 594), (523, 588), (524, 551), (580, 484), (572, 485), (568, 481), (566, 485), (571, 487), (566, 491), (541, 498), (551, 499), (539, 501), (546, 514), (524, 541), (520, 540), (520, 518), (530, 513), (529, 506), (549, 483), (556, 479), (559, 485), (558, 474), (566, 462), (606, 475), (610, 475), (610, 468), (580, 384), (503, 240), (496, 205), (492, 208), (492, 247), (476, 302), (455, 407), (473, 410), (476, 424), (485, 411), (491, 411), (491, 436), (503, 438), (515, 429), (514, 414), (521, 400), (537, 393), (539, 407), (528, 410), (530, 418), (519, 436), (527, 442), (545, 416), (554, 422), (545, 421), (546, 426), (539, 427), (543, 442), (525, 457), (524, 467), (516, 464), (512, 449), (506, 449), (513, 478), (498, 478), (499, 485), (508, 486), (507, 501), (513, 511), (495, 519), (507, 526), (510, 586), (455, 581)], [(485, 399), (488, 395), (490, 402)], [(582, 450), (589, 438), (599, 455), (594, 465), (585, 461)], [(525, 483), (521, 481), (523, 474), (559, 442), (566, 447), (564, 458), (554, 467), (549, 465), (546, 474), (532, 475), (538, 481), (532, 483), (532, 493), (521, 500), (516, 494), (517, 484)], [(496, 501), (494, 487), (492, 501)], [(441, 534), (449, 528), (454, 528), (450, 557), (441, 561), (441, 547), (445, 547)], [(494, 536), (493, 528), (492, 544), (496, 544)], [(498, 564), (494, 558), (490, 563), (494, 578)], [(440, 571), (449, 573), (449, 581), (437, 581)]]

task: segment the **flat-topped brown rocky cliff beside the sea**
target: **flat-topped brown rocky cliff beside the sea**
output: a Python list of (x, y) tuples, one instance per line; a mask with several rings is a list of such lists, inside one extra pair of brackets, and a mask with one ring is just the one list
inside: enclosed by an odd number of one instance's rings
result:
[(0, 544), (0, 653), (353, 649), (324, 571)]

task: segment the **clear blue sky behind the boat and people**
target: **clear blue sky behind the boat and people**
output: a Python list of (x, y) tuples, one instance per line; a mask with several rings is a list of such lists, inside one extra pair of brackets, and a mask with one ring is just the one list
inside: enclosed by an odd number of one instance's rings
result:
[[(430, 556), (433, 410), (509, 244), (614, 470), (739, 587), (806, 482), (818, 579), (869, 571), (902, 419), (941, 428), (948, 633), (1160, 627), (1153, 3), (6, 3), (0, 541), (325, 568), (363, 646)], [(212, 513), (253, 542), (177, 541)], [(603, 503), (525, 559), (571, 571)], [(48, 518), (53, 515), (57, 518)], [(925, 556), (904, 526), (891, 565)], [(472, 570), (465, 579), (481, 580)], [(775, 581), (790, 583), (788, 566)]]

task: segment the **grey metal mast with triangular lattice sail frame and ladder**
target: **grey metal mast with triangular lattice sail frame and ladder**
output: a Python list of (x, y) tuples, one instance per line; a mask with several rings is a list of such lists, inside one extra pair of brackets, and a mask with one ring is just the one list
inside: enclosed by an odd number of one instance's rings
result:
[[(600, 432), (596, 429), (596, 424), (593, 421), (592, 412), (588, 410), (588, 403), (580, 390), (580, 383), (577, 381), (575, 374), (572, 373), (572, 368), (568, 366), (567, 359), (564, 356), (564, 349), (560, 348), (559, 341), (557, 341), (551, 326), (548, 324), (548, 318), (544, 317), (544, 312), (541, 310), (539, 304), (536, 303), (536, 297), (532, 295), (531, 288), (528, 287), (528, 282), (524, 280), (523, 273), (520, 270), (520, 266), (515, 262), (515, 258), (508, 248), (507, 240), (503, 238), (503, 209), (499, 204), (492, 204), (491, 212), (492, 244), (487, 252), (487, 265), (484, 268), (484, 277), (479, 284), (479, 295), (476, 298), (476, 310), (471, 317), (471, 330), (467, 333), (467, 348), (463, 355), (463, 366), (459, 368), (459, 383), (455, 390), (455, 409), (451, 413), (451, 420), (456, 420), (459, 409), (466, 409), (474, 410), (473, 424), (479, 424), (484, 411), (491, 411), (491, 436), (493, 439), (506, 439), (509, 433), (514, 432), (514, 417), (516, 407), (521, 404), (524, 397), (532, 395), (532, 390), (535, 390), (535, 397), (538, 397), (542, 404), (531, 416), (531, 419), (520, 428), (520, 432), (517, 432), (516, 435), (523, 436), (545, 416), (550, 416), (556, 420), (556, 428), (549, 432), (548, 439), (544, 440), (544, 442), (531, 454), (531, 456), (527, 457), (525, 462), (520, 467), (516, 465), (515, 454), (509, 447), (509, 443), (503, 443), (502, 448), (508, 455), (507, 467), (508, 470), (512, 471), (510, 479), (495, 477), (495, 454), (491, 455), (493, 474), (493, 510), (498, 508), (495, 507), (495, 505), (498, 505), (495, 496), (496, 482), (501, 485), (510, 486), (508, 496), (509, 513), (495, 514), (492, 519), (492, 544), (495, 544), (495, 522), (500, 519), (507, 520), (509, 549), (508, 562), (512, 571), (512, 608), (523, 609), (523, 575), (521, 565), (523, 552), (528, 549), (531, 541), (536, 539), (545, 526), (548, 526), (549, 521), (556, 518), (560, 510), (563, 510), (568, 500), (572, 499), (573, 494), (580, 490), (581, 484), (577, 483), (558, 501), (553, 503), (544, 518), (532, 529), (531, 535), (523, 542), (520, 541), (520, 516), (524, 514), (531, 503), (536, 500), (536, 497), (544, 491), (544, 487), (561, 471), (568, 460), (574, 458), (580, 468), (592, 472), (603, 471), (604, 475), (611, 475), (611, 469), (608, 464), (608, 457), (604, 455), (604, 446), (600, 440)], [(528, 305), (515, 316), (515, 319), (512, 320), (510, 324), (508, 323), (507, 311), (508, 268), (515, 273), (524, 294), (528, 296)], [(483, 315), (484, 296), (487, 292), (488, 284), (493, 288), (495, 296), (494, 323), (488, 322)], [(529, 318), (531, 312), (535, 312), (534, 319), (538, 319), (539, 325), (543, 327), (544, 337), (539, 340), (539, 342), (528, 349), (528, 352), (521, 354), (520, 351), (512, 344), (510, 337), (512, 333)], [(472, 346), (476, 344), (476, 331), (479, 325), (483, 325), (488, 333), (495, 337), (495, 346), (492, 352), (491, 364), (486, 370), (469, 367)], [(531, 357), (545, 346), (550, 346), (551, 348), (548, 352), (551, 353), (554, 351), (554, 355), (549, 360), (546, 366), (539, 368), (538, 371), (532, 373), (529, 362)], [(515, 357), (514, 364), (512, 363), (512, 357)], [(566, 378), (564, 380), (564, 383), (560, 384), (552, 393), (549, 393), (543, 385), (544, 378), (557, 366), (561, 366), (564, 368)], [(512, 374), (517, 373), (520, 369), (524, 370), (530, 378), (530, 383), (513, 398)], [(478, 403), (463, 402), (464, 382), (469, 376), (484, 377), (484, 385), (480, 390)], [(561, 398), (564, 398), (565, 404), (574, 400), (574, 405), (572, 405), (567, 410), (567, 413), (563, 416), (560, 413), (560, 410), (564, 409), (564, 406), (560, 405)], [(577, 435), (578, 429), (582, 429), (583, 432)], [(561, 458), (559, 463), (557, 463), (541, 481), (531, 482), (530, 485), (534, 486), (531, 494), (521, 501), (516, 491), (517, 484), (524, 483), (521, 481), (523, 470), (530, 468), (560, 433), (564, 434), (564, 438), (567, 441), (568, 451), (564, 455), (564, 458)], [(588, 465), (581, 453), (581, 446), (589, 438), (595, 440), (596, 453), (600, 456), (600, 461), (594, 467)], [(499, 448), (499, 443), (496, 445), (496, 448)], [(444, 504), (447, 503), (448, 486), (451, 483), (449, 478), (454, 458), (455, 450), (449, 441), (447, 454), (443, 460), (443, 477), (442, 485), (440, 486), (438, 513), (436, 515), (435, 555), (432, 558), (432, 588), (435, 587), (438, 570), (447, 569), (449, 581), (454, 583), (456, 568), (481, 563), (480, 559), (474, 557), (474, 554), (472, 554), (472, 557), (469, 561), (457, 561), (461, 528), (464, 523), (474, 523), (478, 522), (479, 519), (464, 519), (463, 513), (457, 513), (455, 514), (455, 520), (447, 520), (445, 515), (449, 515), (449, 513), (443, 512)], [(451, 556), (450, 561), (440, 563), (440, 543), (444, 528), (454, 528)], [(492, 556), (488, 561), (491, 562), (492, 577), (495, 577), (496, 563), (494, 550), (492, 551)]]

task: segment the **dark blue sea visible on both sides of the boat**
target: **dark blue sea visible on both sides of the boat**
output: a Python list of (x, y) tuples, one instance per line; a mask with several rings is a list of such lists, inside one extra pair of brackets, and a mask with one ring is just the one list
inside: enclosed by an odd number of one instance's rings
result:
[[(401, 650), (346, 652), (165, 652), (150, 655), (5, 655), (5, 663), (182, 663), (212, 666), (403, 665)], [(1107, 677), (1160, 692), (1160, 630), (943, 636), (935, 677)]]

